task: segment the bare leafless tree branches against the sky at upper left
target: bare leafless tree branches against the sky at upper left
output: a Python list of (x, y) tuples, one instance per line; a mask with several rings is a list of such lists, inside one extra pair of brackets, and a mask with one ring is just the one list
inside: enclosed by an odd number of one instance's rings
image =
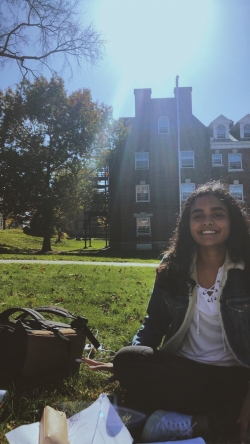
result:
[[(47, 67), (53, 74), (53, 56), (62, 55), (61, 66), (71, 68), (85, 60), (102, 58), (104, 41), (92, 24), (83, 27), (80, 0), (1, 0), (0, 66), (17, 63), (23, 76)], [(58, 57), (57, 57), (58, 66)]]

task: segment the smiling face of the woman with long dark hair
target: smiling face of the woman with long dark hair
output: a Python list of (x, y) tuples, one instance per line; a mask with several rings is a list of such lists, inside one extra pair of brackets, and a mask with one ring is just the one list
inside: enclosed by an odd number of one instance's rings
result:
[(190, 232), (200, 247), (224, 245), (230, 233), (227, 207), (212, 194), (197, 197), (190, 209)]

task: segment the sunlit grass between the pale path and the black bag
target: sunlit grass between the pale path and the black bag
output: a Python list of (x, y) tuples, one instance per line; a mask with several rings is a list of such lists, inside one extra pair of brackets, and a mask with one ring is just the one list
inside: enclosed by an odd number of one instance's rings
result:
[(141, 267), (2, 264), (0, 307), (61, 305), (86, 316), (99, 340), (117, 350), (142, 321), (154, 274)]

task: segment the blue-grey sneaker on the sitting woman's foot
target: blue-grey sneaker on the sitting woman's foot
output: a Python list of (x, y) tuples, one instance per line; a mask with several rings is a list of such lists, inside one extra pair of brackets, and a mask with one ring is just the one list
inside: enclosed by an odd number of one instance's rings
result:
[(192, 416), (176, 412), (156, 410), (147, 420), (143, 432), (143, 442), (174, 441), (193, 436)]

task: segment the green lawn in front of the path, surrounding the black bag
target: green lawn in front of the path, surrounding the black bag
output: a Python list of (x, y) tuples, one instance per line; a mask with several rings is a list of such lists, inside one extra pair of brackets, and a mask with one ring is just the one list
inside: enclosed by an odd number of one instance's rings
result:
[[(84, 315), (103, 349), (108, 350), (94, 351), (94, 357), (110, 360), (140, 327), (154, 274), (154, 268), (130, 266), (1, 264), (0, 307), (3, 311), (15, 306), (58, 305)], [(0, 372), (0, 388), (11, 395), (10, 401), (0, 406), (0, 443), (7, 443), (7, 431), (39, 421), (45, 405), (56, 408), (58, 403), (91, 402), (102, 392), (120, 392), (117, 383), (104, 386), (106, 378), (83, 364), (79, 375), (58, 386), (30, 390), (21, 379), (13, 381)]]

